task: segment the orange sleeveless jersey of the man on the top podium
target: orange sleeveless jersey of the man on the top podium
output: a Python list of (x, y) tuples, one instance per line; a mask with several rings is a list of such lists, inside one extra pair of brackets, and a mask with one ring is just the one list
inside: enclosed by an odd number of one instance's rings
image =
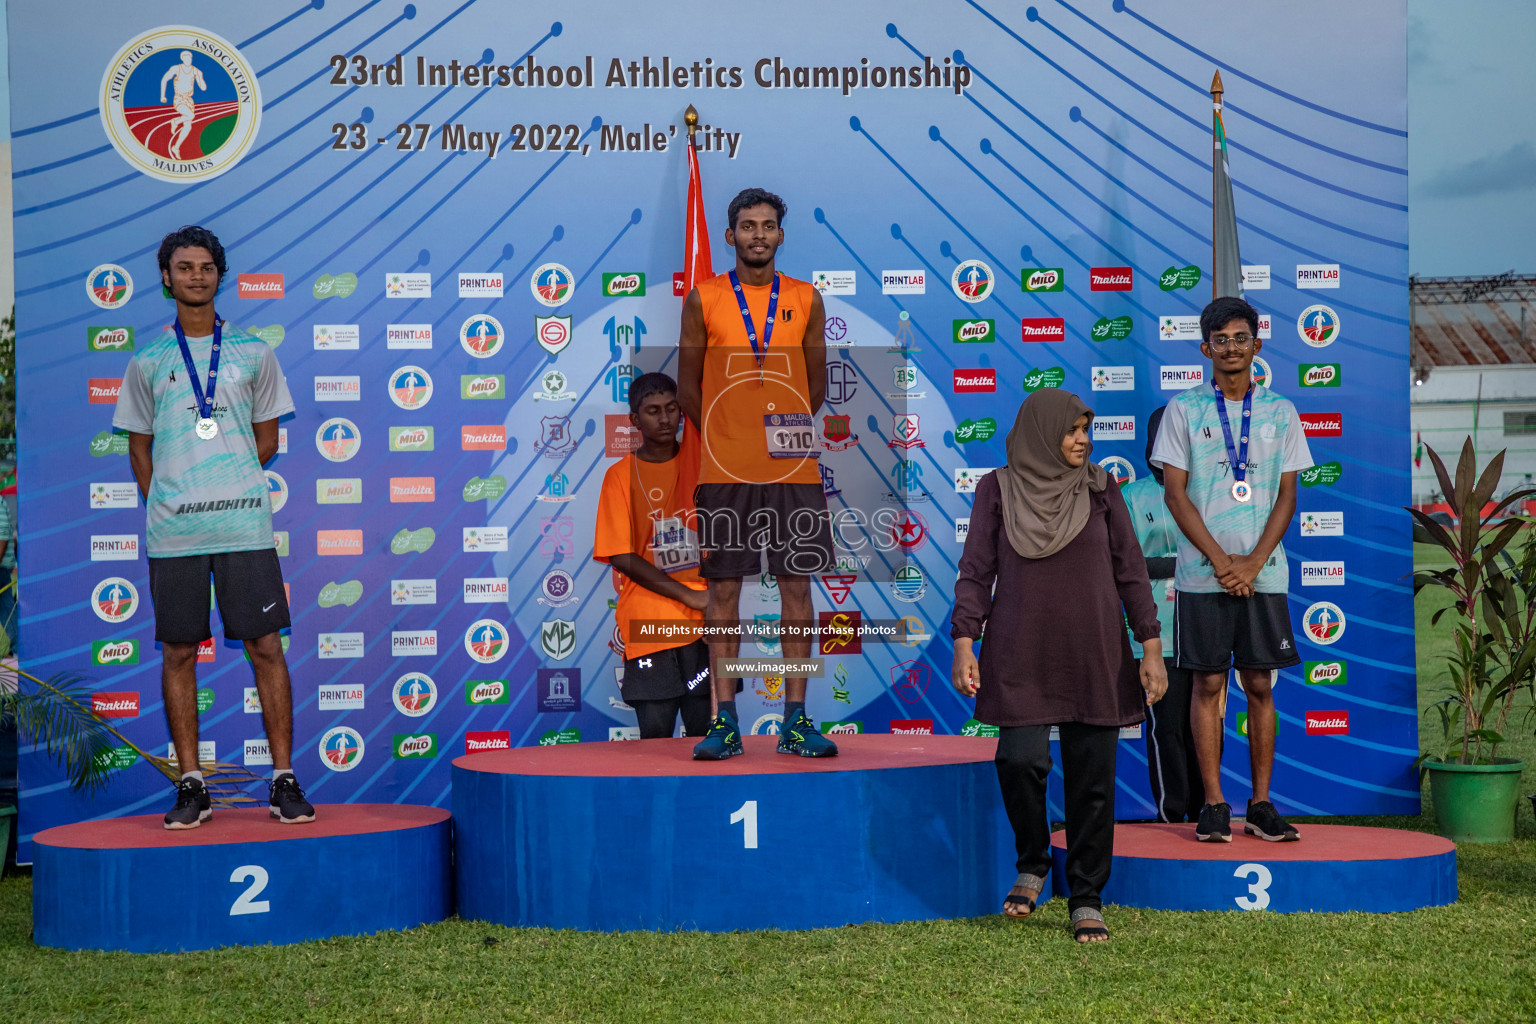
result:
[[(742, 284), (762, 347), (771, 284)], [(699, 282), (707, 350), (703, 353), (703, 453), (700, 484), (820, 484), (811, 457), (768, 454), (766, 416), (811, 415), (805, 378), (805, 325), (816, 289), (809, 281), (779, 275), (779, 313), (773, 341), (759, 368), (731, 276)], [(814, 434), (813, 434), (814, 436)], [(816, 445), (813, 444), (814, 450)]]

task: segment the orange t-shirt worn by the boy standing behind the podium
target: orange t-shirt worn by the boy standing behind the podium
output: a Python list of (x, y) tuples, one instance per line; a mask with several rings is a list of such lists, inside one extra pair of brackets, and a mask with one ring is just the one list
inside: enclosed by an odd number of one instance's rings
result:
[[(684, 422), (682, 442), (677, 456), (668, 462), (644, 462), (633, 453), (619, 459), (602, 477), (598, 496), (598, 530), (593, 537), (591, 556), (608, 562), (614, 554), (639, 554), (657, 565), (651, 543), (656, 537), (656, 520), (676, 519), (679, 525), (693, 522), (693, 488), (699, 482), (699, 431)], [(697, 551), (697, 542), (694, 542)], [(697, 556), (691, 568), (668, 573), (691, 590), (705, 590), (699, 579)], [(699, 639), (697, 625), (703, 613), (664, 597), (641, 586), (628, 576), (614, 571), (619, 585), (619, 636), (624, 639), (624, 657), (634, 659), (656, 651), (685, 646)], [(690, 629), (671, 637), (641, 640), (631, 636), (630, 623), (687, 622)]]

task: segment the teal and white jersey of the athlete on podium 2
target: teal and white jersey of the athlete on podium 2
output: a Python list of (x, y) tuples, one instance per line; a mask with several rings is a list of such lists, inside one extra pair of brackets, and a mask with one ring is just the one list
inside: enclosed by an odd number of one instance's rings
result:
[[(187, 338), (187, 348), (198, 382), (207, 387), (214, 338)], [(112, 425), (155, 438), (146, 554), (157, 559), (273, 547), (272, 502), (250, 424), (292, 411), (293, 396), (276, 353), (227, 322), (214, 390), (218, 434), (212, 441), (194, 433), (197, 399), (175, 332), (167, 327), (134, 353)]]

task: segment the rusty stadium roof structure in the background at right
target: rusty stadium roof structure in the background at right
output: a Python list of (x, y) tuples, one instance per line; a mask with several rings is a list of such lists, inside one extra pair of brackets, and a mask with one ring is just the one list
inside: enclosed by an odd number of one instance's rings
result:
[(1536, 276), (1409, 278), (1410, 362), (1536, 364)]

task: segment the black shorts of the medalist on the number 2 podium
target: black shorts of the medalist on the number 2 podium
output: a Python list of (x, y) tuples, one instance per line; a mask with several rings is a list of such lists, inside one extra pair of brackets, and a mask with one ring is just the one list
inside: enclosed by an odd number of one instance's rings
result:
[(287, 629), (287, 591), (276, 548), (183, 554), (149, 559), (149, 597), (155, 603), (155, 640), (201, 643), (207, 628), (207, 580), (218, 593), (218, 617), (229, 640), (255, 640)]

